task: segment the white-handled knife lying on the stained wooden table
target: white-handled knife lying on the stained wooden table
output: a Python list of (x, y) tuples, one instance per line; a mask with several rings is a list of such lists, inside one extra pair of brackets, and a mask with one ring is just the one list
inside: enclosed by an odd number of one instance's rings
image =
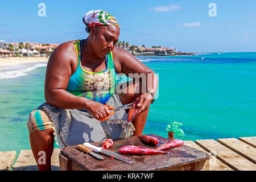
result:
[(92, 150), (93, 152), (105, 154), (108, 156), (114, 156), (114, 158), (117, 160), (121, 160), (122, 162), (125, 162), (128, 164), (133, 164), (133, 162), (129, 158), (126, 158), (125, 156), (122, 156), (120, 154), (117, 154), (117, 153), (109, 151), (109, 150), (102, 149), (101, 147), (96, 147), (88, 142), (85, 142), (84, 146), (90, 148), (90, 150)]

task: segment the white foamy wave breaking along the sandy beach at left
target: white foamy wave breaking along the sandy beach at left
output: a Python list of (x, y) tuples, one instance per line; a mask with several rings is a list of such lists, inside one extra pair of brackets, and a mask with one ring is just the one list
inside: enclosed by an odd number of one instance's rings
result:
[(32, 67), (29, 67), (29, 68), (2, 72), (2, 73), (0, 73), (0, 79), (16, 78), (16, 77), (20, 77), (20, 76), (26, 76), (27, 72), (31, 72), (31, 71), (33, 71), (36, 68), (46, 67), (46, 66), (47, 66), (47, 63), (43, 63), (43, 64), (40, 63), (40, 64), (36, 64), (36, 65), (34, 65)]

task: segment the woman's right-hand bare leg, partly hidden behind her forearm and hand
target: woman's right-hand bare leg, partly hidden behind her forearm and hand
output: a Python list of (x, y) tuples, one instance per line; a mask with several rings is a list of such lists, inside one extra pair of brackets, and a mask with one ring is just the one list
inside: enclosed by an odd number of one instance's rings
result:
[[(142, 94), (141, 81), (126, 82), (126, 84), (122, 84), (122, 86), (120, 86), (120, 89), (122, 90), (122, 92), (119, 93), (118, 96), (122, 101), (123, 105), (134, 102)], [(132, 123), (135, 127), (135, 131), (133, 132), (134, 135), (142, 135), (144, 126), (147, 121), (148, 111), (149, 109), (145, 110), (143, 113), (138, 114), (137, 117), (133, 119)]]

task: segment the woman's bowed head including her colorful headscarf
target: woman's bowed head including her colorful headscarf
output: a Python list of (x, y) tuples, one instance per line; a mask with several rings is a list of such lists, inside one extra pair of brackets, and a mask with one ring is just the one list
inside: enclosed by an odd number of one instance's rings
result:
[(89, 42), (98, 57), (113, 51), (119, 38), (119, 24), (114, 16), (106, 11), (92, 10), (84, 15), (83, 22), (89, 33)]

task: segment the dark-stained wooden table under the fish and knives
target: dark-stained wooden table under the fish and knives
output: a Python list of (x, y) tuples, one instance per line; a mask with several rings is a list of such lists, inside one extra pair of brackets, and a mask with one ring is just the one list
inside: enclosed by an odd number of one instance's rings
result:
[[(146, 134), (158, 138), (160, 144), (170, 141), (170, 139), (154, 134)], [(118, 152), (118, 149), (126, 145), (135, 145), (148, 148), (137, 137), (127, 137), (113, 140), (114, 144), (109, 148), (110, 151)], [(91, 143), (99, 146), (100, 142)], [(158, 144), (159, 146), (159, 144)], [(199, 171), (209, 170), (210, 155), (191, 148), (189, 146), (179, 146), (171, 148), (170, 154), (157, 155), (123, 155), (130, 158), (134, 164), (127, 164), (109, 156), (100, 154), (103, 160), (97, 160), (92, 156), (82, 153), (76, 146), (69, 146), (60, 151), (59, 162), (61, 171), (150, 171), (150, 170), (180, 170), (180, 171)]]

